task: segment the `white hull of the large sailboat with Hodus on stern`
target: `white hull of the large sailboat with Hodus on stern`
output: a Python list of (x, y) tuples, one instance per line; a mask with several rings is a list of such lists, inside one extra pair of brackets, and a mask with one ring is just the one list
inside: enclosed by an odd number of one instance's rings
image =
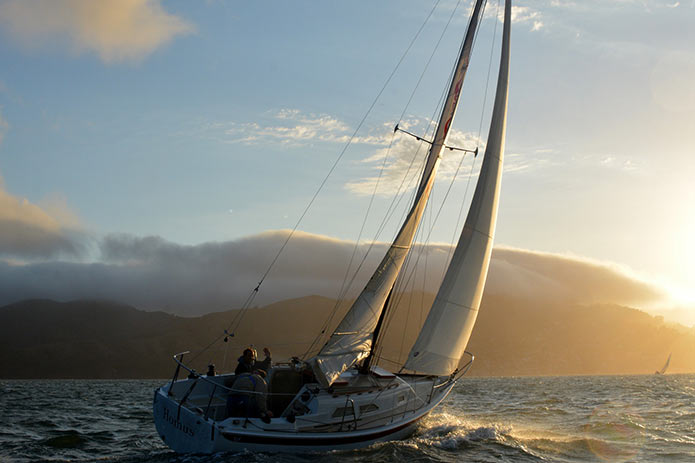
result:
[[(178, 387), (181, 391), (187, 388), (190, 381), (179, 381), (174, 386), (183, 383)], [(155, 391), (155, 425), (162, 440), (178, 453), (356, 449), (376, 442), (404, 439), (411, 435), (418, 421), (447, 396), (454, 384), (450, 382), (443, 387), (432, 388), (437, 381), (437, 378), (420, 378), (408, 382), (397, 378), (391, 384), (399, 386), (381, 391), (374, 390), (373, 395), (357, 390), (350, 394), (322, 392), (318, 399), (323, 403), (315, 413), (297, 416), (294, 423), (290, 423), (285, 417), (273, 418), (270, 423), (265, 423), (260, 418), (232, 417), (214, 420), (210, 416), (206, 417), (203, 408), (191, 406), (188, 400), (184, 401), (184, 405), (180, 405), (180, 399), (177, 400), (176, 395), (168, 394), (170, 385), (167, 385)], [(405, 393), (417, 394), (418, 387), (419, 392), (426, 393), (426, 388), (422, 386), (426, 386), (427, 383), (431, 389), (429, 402), (416, 401), (413, 396), (409, 399), (412, 409), (409, 409), (407, 403), (390, 412), (385, 409), (386, 404), (401, 398)], [(322, 414), (325, 410), (333, 412), (340, 409), (348, 401), (354, 401), (352, 410), (361, 410), (361, 407), (369, 403), (377, 403), (384, 408), (380, 409), (381, 413), (375, 414), (374, 419), (369, 413), (360, 412), (355, 413), (357, 416), (350, 415), (348, 418), (345, 415), (336, 416), (335, 413)], [(327, 416), (330, 418), (326, 419)]]

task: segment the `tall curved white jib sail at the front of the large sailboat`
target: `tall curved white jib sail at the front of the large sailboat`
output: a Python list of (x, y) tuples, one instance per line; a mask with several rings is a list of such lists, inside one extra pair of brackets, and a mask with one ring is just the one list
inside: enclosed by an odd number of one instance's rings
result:
[(456, 370), (478, 315), (492, 253), (502, 179), (510, 26), (511, 0), (506, 0), (497, 94), (485, 158), (454, 256), (404, 365), (417, 373), (449, 375)]

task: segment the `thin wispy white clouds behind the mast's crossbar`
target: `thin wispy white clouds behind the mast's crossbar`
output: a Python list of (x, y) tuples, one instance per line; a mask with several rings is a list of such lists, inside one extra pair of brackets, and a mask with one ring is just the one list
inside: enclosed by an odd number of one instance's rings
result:
[[(356, 178), (345, 184), (345, 189), (357, 195), (371, 195), (376, 188), (380, 196), (393, 196), (415, 188), (419, 172), (427, 155), (429, 145), (417, 141), (410, 135), (394, 134), (395, 122), (377, 124), (367, 129), (366, 135), (352, 137), (354, 129), (346, 123), (327, 114), (304, 113), (297, 109), (281, 109), (267, 113), (270, 120), (252, 123), (212, 123), (203, 130), (206, 134), (217, 134), (216, 139), (223, 143), (245, 145), (270, 145), (300, 147), (316, 142), (361, 144), (375, 147), (358, 161), (368, 172), (362, 178)], [(431, 137), (432, 121), (412, 117), (401, 121), (404, 130)], [(220, 132), (222, 135), (220, 136)], [(479, 148), (482, 153), (485, 143), (472, 132), (452, 129), (447, 141), (456, 148)], [(466, 155), (470, 159), (470, 154)], [(458, 150), (444, 150), (438, 171), (438, 181), (450, 181), (454, 178), (466, 179), (471, 175), (470, 168), (462, 164), (464, 153)], [(515, 154), (509, 155), (505, 172), (521, 171), (529, 168), (529, 161)], [(538, 166), (540, 164), (536, 164)], [(462, 170), (463, 169), (463, 170)]]

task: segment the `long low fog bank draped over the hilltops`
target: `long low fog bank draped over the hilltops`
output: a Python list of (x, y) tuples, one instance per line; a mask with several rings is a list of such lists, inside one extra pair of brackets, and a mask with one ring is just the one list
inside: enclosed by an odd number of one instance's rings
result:
[[(238, 308), (261, 281), (287, 233), (196, 246), (158, 237), (111, 235), (101, 242), (100, 263), (0, 263), (0, 304), (26, 298), (99, 298), (185, 315)], [(358, 247), (353, 271), (367, 248)], [(373, 248), (348, 296), (361, 289), (384, 249), (383, 244)], [(336, 297), (353, 250), (352, 242), (298, 233), (263, 281), (254, 305), (309, 294)], [(446, 245), (417, 248), (411, 260), (427, 262), (427, 272), (419, 266), (410, 278), (414, 288), (424, 284), (434, 291), (449, 256)], [(666, 297), (658, 287), (609, 265), (511, 248), (493, 252), (486, 291), (540, 303), (552, 299), (638, 307)]]

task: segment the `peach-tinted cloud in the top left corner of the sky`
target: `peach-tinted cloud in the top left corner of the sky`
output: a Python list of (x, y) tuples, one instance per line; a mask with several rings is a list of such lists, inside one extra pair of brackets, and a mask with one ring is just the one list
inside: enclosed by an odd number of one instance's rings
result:
[(0, 26), (27, 47), (58, 41), (106, 63), (140, 60), (193, 30), (159, 0), (8, 0), (0, 4)]

